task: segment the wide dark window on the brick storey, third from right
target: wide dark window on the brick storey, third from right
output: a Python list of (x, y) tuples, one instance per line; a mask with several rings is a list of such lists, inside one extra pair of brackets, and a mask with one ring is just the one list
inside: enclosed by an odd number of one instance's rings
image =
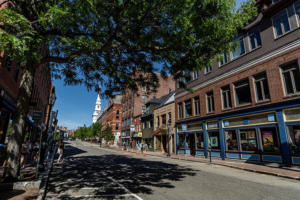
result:
[(249, 80), (239, 81), (234, 83), (235, 103), (237, 106), (250, 104), (251, 93)]

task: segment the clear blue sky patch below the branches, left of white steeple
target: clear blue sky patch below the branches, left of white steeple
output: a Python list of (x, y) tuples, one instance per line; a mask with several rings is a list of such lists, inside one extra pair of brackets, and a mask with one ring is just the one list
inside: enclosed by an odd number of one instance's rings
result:
[[(242, 0), (237, 0), (236, 5), (239, 6), (241, 2)], [(84, 86), (63, 86), (63, 80), (54, 80), (54, 87), (57, 100), (53, 110), (58, 110), (58, 125), (71, 129), (84, 124), (91, 125), (97, 93), (88, 92)], [(104, 108), (108, 101), (102, 99), (101, 103), (101, 108)]]

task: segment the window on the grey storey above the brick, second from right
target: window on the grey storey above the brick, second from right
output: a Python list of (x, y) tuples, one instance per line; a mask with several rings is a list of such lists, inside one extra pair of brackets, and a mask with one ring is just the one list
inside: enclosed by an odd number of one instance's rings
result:
[(287, 11), (283, 11), (282, 13), (276, 15), (272, 18), (272, 20), (277, 37), (291, 30), (287, 17)]

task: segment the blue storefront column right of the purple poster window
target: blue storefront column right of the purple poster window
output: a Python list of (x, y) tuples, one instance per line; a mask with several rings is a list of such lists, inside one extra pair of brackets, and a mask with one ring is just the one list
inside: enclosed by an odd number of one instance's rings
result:
[(284, 123), (283, 111), (282, 110), (276, 111), (276, 116), (277, 116), (279, 138), (281, 141), (280, 145), (282, 149), (284, 164), (285, 167), (291, 167), (292, 160), (291, 160), (290, 148), (288, 145), (287, 129)]

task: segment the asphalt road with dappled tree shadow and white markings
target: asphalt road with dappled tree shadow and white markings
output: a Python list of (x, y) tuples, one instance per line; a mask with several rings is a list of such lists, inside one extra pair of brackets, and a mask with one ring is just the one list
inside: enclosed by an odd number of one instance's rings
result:
[(300, 181), (66, 142), (46, 199), (300, 199)]

